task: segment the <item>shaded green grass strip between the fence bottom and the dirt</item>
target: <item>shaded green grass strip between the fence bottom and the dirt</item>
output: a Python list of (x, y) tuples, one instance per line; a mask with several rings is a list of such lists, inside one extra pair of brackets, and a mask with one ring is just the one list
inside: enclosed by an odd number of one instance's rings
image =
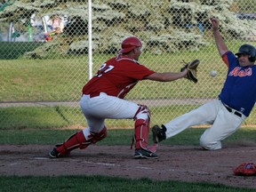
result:
[[(0, 144), (41, 144), (54, 145), (63, 142), (74, 132), (81, 130), (75, 127), (68, 129), (23, 129), (23, 130), (0, 130)], [(164, 140), (164, 145), (199, 145), (199, 138), (205, 128), (190, 128), (169, 140)], [(97, 145), (131, 145), (133, 129), (108, 129), (108, 137)], [(152, 143), (152, 135), (149, 132), (149, 142)], [(256, 129), (253, 127), (240, 128), (228, 139), (223, 141), (223, 145), (229, 143), (248, 142), (256, 143)]]

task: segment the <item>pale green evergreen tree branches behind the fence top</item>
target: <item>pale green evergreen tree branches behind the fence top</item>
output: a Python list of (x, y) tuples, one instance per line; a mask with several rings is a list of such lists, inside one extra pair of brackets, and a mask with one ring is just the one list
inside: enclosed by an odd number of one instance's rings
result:
[[(150, 6), (146, 6), (136, 0), (94, 0), (93, 51), (114, 53), (124, 37), (131, 35), (140, 36), (145, 51), (148, 52), (197, 50), (207, 44), (207, 31), (211, 27), (209, 19), (212, 16), (220, 19), (221, 30), (227, 36), (246, 36), (256, 30), (256, 26), (253, 24), (255, 20), (239, 20), (236, 17), (235, 13), (239, 12), (242, 2), (163, 0), (152, 1)], [(246, 6), (250, 12), (253, 7), (255, 9), (253, 0), (246, 1)], [(59, 55), (87, 52), (87, 1), (14, 1), (0, 12), (0, 19), (1, 22), (14, 22), (17, 30), (28, 34), (28, 23), (32, 14), (36, 14), (39, 20), (46, 15), (68, 15), (68, 23), (58, 38), (38, 47), (34, 52), (28, 52), (27, 56), (43, 58), (48, 52)]]

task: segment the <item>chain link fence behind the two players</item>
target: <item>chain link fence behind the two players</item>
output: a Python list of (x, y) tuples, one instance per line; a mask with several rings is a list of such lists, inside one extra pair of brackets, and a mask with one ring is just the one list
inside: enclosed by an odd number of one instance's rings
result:
[[(88, 2), (1, 3), (1, 129), (86, 126), (79, 100), (91, 69)], [(214, 44), (212, 16), (220, 19), (232, 52), (242, 44), (256, 45), (255, 0), (92, 0), (91, 13), (93, 73), (117, 54), (127, 36), (140, 37), (140, 63), (157, 72), (180, 71), (182, 60), (201, 60), (197, 84), (142, 81), (126, 96), (148, 105), (152, 124), (164, 124), (218, 97), (227, 68)], [(218, 75), (210, 76), (212, 70)], [(256, 124), (255, 112), (244, 124)], [(133, 127), (131, 120), (106, 123), (109, 128)]]

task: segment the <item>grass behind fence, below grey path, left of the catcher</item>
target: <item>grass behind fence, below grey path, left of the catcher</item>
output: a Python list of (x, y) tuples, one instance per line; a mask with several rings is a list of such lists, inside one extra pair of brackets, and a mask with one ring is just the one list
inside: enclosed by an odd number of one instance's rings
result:
[[(65, 127), (85, 119), (80, 108), (55, 107), (17, 107), (0, 108), (0, 130)], [(78, 118), (78, 119), (77, 119)]]

